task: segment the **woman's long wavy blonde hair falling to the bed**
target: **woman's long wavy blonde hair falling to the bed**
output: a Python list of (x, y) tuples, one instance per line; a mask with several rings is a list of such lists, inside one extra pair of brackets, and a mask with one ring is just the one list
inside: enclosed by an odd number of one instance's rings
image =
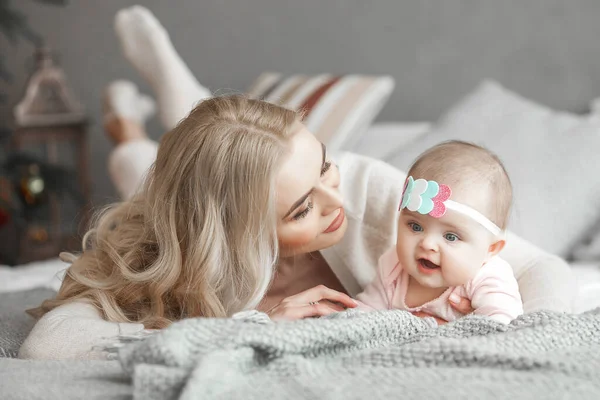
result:
[(300, 116), (240, 95), (202, 101), (161, 140), (141, 191), (99, 213), (55, 299), (163, 328), (263, 298), (277, 263), (275, 179)]

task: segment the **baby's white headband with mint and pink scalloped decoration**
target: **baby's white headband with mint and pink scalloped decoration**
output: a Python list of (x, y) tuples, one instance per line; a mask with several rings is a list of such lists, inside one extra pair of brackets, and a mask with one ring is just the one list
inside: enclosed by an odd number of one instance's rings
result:
[(454, 210), (470, 217), (494, 235), (499, 235), (502, 232), (502, 229), (479, 211), (450, 200), (451, 195), (452, 190), (448, 185), (438, 184), (436, 181), (425, 179), (415, 180), (412, 176), (409, 176), (404, 184), (400, 210), (406, 208), (410, 211), (423, 215), (427, 214), (434, 218), (443, 217), (446, 214), (446, 210)]

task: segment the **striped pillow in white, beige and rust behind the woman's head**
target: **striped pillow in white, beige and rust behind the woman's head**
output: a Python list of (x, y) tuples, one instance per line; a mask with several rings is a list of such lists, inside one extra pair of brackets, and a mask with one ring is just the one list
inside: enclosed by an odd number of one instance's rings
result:
[(331, 150), (352, 149), (394, 89), (390, 76), (264, 73), (250, 97), (305, 113), (304, 123)]

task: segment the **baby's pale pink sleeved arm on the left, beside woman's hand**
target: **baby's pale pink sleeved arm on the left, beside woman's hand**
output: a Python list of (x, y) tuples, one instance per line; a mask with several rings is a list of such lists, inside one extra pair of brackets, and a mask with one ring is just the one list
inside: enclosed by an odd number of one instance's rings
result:
[(393, 273), (397, 269), (396, 248), (385, 252), (377, 265), (377, 276), (369, 283), (365, 290), (356, 296), (358, 300), (358, 309), (365, 311), (389, 310), (390, 296), (388, 287), (393, 279)]

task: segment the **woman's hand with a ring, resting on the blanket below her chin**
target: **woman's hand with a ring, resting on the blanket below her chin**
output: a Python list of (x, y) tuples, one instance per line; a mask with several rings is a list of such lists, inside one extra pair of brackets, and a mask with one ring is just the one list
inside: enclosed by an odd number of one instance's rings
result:
[(354, 308), (357, 303), (350, 296), (324, 285), (315, 286), (294, 296), (286, 297), (267, 314), (273, 321), (292, 321), (309, 317), (322, 317)]

